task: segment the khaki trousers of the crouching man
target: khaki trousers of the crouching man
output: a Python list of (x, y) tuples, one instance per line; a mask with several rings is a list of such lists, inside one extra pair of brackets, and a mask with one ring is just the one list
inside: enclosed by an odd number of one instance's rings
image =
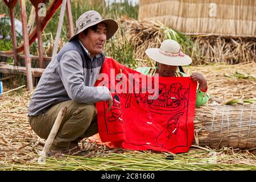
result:
[(52, 143), (52, 150), (65, 150), (71, 142), (98, 133), (97, 110), (93, 104), (82, 104), (65, 101), (52, 106), (46, 113), (38, 116), (28, 116), (30, 126), (35, 133), (47, 139), (52, 126), (62, 107), (67, 106), (63, 121)]

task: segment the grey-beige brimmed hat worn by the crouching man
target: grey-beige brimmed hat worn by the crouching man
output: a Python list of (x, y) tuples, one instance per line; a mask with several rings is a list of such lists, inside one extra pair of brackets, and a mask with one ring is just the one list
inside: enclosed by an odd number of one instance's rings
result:
[(104, 22), (106, 24), (106, 39), (110, 39), (118, 29), (118, 24), (113, 19), (102, 19), (97, 11), (86, 11), (76, 20), (76, 34), (72, 36), (69, 42), (86, 28), (94, 26), (95, 24)]

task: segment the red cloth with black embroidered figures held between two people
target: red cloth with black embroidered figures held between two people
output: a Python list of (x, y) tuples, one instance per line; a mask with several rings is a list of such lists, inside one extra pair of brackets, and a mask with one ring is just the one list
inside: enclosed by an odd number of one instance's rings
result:
[[(120, 93), (121, 83), (134, 85), (138, 77), (129, 79), (129, 73), (141, 73), (126, 68), (110, 57), (106, 57), (101, 73), (116, 80), (97, 80), (96, 86), (106, 85), (113, 96), (112, 109), (107, 112), (108, 102), (97, 102), (98, 131), (102, 142), (112, 142), (110, 146), (131, 150), (156, 150), (173, 153), (187, 152), (193, 142), (196, 104), (196, 82), (189, 77), (158, 77), (159, 96), (155, 100), (148, 99), (150, 93)], [(112, 71), (110, 71), (112, 70)], [(150, 84), (143, 85), (139, 81), (139, 88), (154, 85), (156, 77), (144, 76)], [(126, 79), (127, 78), (127, 79)], [(154, 85), (153, 88), (156, 88)], [(123, 89), (123, 90), (128, 90)], [(133, 89), (134, 91), (134, 89)], [(152, 95), (152, 94), (151, 94)]]

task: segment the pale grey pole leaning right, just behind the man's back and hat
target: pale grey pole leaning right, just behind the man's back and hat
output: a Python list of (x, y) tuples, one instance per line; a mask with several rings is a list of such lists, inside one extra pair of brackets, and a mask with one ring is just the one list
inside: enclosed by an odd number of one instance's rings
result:
[(59, 19), (57, 34), (56, 34), (56, 37), (55, 37), (55, 43), (54, 43), (54, 47), (53, 47), (53, 51), (52, 51), (52, 60), (54, 59), (55, 55), (57, 54), (57, 49), (58, 49), (60, 34), (61, 34), (61, 27), (62, 27), (62, 24), (63, 24), (64, 14), (65, 14), (66, 3), (67, 3), (67, 0), (63, 0), (62, 5), (61, 5), (60, 19)]

